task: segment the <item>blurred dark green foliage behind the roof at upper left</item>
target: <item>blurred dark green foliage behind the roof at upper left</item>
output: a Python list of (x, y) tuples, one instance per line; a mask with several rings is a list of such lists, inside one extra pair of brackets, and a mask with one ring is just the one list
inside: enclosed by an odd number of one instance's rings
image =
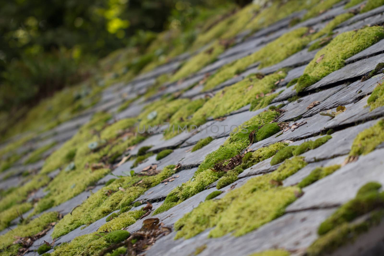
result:
[[(83, 81), (98, 59), (119, 48), (134, 48), (140, 57), (126, 63), (125, 68), (134, 69), (129, 74), (133, 76), (165, 51), (184, 51), (195, 39), (194, 21), (228, 3), (233, 1), (2, 1), (0, 109), (9, 112), (33, 105)], [(172, 43), (179, 49), (169, 49), (167, 42), (151, 48), (162, 31), (172, 31)], [(159, 58), (147, 69), (164, 61)]]

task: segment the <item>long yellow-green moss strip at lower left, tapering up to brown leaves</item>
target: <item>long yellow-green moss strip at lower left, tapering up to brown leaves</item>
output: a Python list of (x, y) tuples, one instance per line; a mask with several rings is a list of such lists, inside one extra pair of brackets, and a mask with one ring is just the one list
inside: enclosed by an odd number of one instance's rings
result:
[[(81, 225), (89, 225), (120, 208), (122, 208), (122, 211), (123, 209), (124, 211), (129, 210), (131, 203), (142, 193), (156, 186), (165, 178), (172, 176), (175, 173), (174, 167), (174, 165), (164, 167), (159, 174), (154, 176), (122, 177), (108, 186), (101, 188), (98, 192), (93, 193), (83, 201), (80, 206), (76, 207), (72, 211), (72, 214), (65, 215), (64, 218), (56, 224), (52, 237), (58, 238)], [(119, 190), (119, 187), (124, 188), (125, 191)], [(111, 221), (116, 219), (116, 221), (119, 221), (121, 218), (114, 218)], [(111, 223), (111, 221), (108, 223)]]

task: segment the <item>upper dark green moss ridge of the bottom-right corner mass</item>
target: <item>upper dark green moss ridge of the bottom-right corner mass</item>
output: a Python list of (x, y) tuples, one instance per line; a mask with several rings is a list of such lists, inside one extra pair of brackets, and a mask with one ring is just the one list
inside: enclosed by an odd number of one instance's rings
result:
[(336, 210), (318, 228), (318, 234), (324, 235), (343, 223), (348, 223), (369, 211), (376, 209), (384, 202), (384, 193), (379, 192), (377, 183), (368, 183), (356, 197)]

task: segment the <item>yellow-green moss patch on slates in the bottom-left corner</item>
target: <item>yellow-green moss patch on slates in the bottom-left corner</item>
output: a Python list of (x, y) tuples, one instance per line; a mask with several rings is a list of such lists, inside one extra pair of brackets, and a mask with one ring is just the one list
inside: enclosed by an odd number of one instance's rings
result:
[[(4, 255), (16, 255), (17, 253), (11, 253), (15, 248), (21, 248), (21, 244), (12, 245), (15, 241), (15, 236), (25, 237), (33, 236), (40, 231), (43, 231), (50, 223), (56, 222), (58, 220), (57, 212), (44, 213), (38, 218), (31, 220), (29, 223), (24, 225), (19, 225), (13, 230), (8, 231), (4, 235), (0, 236), (0, 250), (4, 252), (9, 252), (9, 254)], [(10, 246), (10, 248), (8, 247)]]

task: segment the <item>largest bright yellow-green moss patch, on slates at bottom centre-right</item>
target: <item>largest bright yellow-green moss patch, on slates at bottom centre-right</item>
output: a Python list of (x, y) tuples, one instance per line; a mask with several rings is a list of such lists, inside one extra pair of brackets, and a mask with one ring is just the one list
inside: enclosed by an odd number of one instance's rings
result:
[(305, 165), (301, 157), (286, 160), (276, 171), (251, 178), (222, 198), (200, 203), (175, 223), (174, 229), (178, 230), (175, 239), (191, 238), (207, 228), (213, 228), (209, 237), (231, 232), (241, 236), (283, 215), (285, 207), (295, 201), (295, 192), (299, 189), (276, 187), (271, 181), (280, 182)]

